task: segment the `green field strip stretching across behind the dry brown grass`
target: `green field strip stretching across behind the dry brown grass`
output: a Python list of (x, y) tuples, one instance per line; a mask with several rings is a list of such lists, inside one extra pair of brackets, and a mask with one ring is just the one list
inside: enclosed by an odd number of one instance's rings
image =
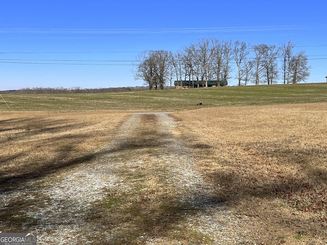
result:
[[(327, 84), (260, 85), (111, 93), (5, 94), (14, 111), (157, 110), (327, 102)], [(9, 110), (1, 101), (0, 111)]]

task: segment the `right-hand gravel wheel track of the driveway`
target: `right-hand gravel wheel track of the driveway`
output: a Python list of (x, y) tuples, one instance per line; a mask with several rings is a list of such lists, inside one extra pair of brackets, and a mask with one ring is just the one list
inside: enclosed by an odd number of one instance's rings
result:
[[(160, 114), (158, 117), (162, 132), (167, 129), (176, 130), (177, 123), (172, 117), (167, 114)], [(185, 149), (185, 145), (182, 139), (172, 137), (166, 145), (170, 154), (162, 158), (169, 167), (168, 178), (172, 183), (178, 183), (175, 188), (180, 189), (180, 203), (186, 202), (185, 206), (196, 210), (196, 213), (186, 214), (188, 227), (207, 235), (211, 244), (248, 244), (249, 234), (244, 232), (248, 217), (232, 214), (223, 203), (213, 198), (213, 186), (205, 182), (196, 171), (196, 160), (192, 158), (190, 150)], [(158, 239), (147, 244), (157, 242), (160, 244)]]

